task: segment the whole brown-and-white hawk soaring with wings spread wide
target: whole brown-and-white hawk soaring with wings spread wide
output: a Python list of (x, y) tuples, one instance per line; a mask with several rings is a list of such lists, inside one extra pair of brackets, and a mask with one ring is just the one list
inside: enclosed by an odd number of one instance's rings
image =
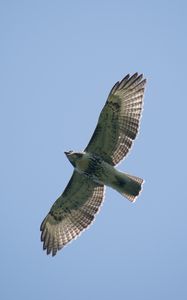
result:
[(83, 152), (65, 152), (74, 167), (62, 195), (41, 224), (41, 241), (47, 254), (56, 255), (93, 221), (105, 186), (131, 202), (143, 179), (114, 168), (129, 152), (138, 133), (146, 79), (135, 73), (117, 82), (103, 107), (96, 129)]

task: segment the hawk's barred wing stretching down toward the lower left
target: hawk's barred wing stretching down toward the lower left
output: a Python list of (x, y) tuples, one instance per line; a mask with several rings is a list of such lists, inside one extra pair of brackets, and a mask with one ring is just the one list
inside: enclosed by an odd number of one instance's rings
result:
[(104, 186), (74, 171), (63, 194), (41, 224), (41, 241), (47, 254), (63, 248), (94, 219), (104, 196)]

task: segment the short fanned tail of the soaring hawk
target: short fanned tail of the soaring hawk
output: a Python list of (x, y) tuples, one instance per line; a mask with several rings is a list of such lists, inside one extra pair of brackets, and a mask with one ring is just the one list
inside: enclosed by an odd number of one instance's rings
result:
[(116, 180), (113, 182), (112, 187), (125, 196), (129, 201), (135, 202), (142, 190), (144, 180), (122, 172), (118, 172), (115, 179)]

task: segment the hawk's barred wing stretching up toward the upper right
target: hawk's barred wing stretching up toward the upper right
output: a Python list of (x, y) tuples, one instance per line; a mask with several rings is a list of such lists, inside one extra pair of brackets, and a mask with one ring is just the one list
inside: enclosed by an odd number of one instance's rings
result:
[(112, 165), (124, 158), (138, 133), (145, 84), (143, 75), (135, 73), (114, 85), (86, 152), (98, 154)]

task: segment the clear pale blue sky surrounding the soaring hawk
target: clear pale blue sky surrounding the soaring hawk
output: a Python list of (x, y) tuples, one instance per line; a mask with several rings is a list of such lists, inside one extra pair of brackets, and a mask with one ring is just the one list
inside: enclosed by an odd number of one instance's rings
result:
[[(187, 299), (186, 1), (1, 1), (0, 298)], [(39, 226), (112, 85), (148, 79), (141, 131), (89, 230), (54, 258)]]

